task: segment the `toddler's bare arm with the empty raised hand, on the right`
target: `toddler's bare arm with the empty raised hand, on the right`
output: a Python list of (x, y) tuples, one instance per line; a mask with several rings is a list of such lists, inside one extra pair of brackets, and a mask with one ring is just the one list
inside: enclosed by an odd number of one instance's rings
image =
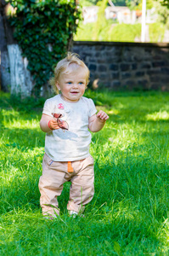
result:
[(100, 131), (104, 127), (107, 119), (109, 119), (109, 116), (102, 110), (97, 114), (93, 114), (93, 116), (88, 119), (89, 130), (93, 132)]

